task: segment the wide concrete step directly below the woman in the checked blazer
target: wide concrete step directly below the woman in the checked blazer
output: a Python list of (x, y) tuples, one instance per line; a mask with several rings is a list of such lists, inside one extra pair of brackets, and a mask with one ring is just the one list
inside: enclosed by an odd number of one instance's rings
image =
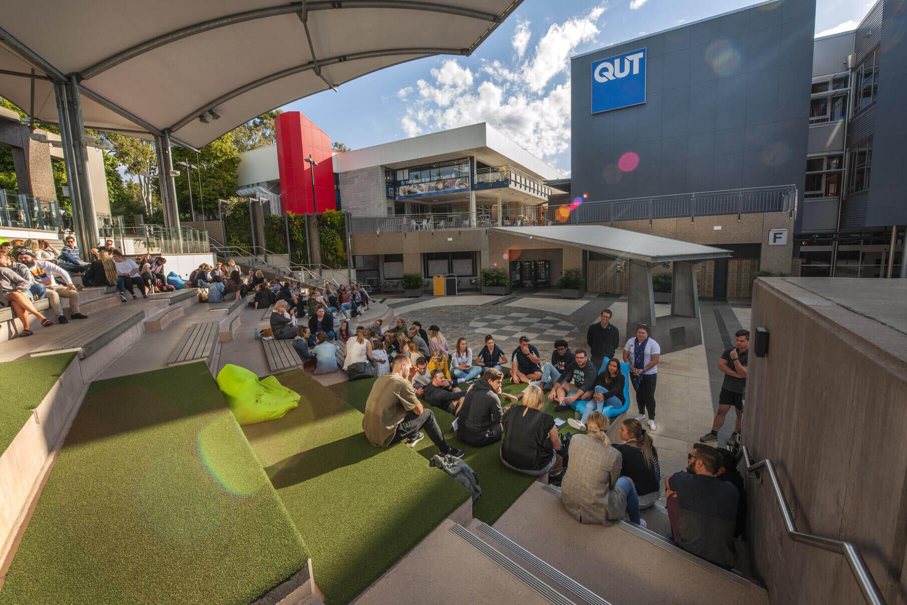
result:
[[(657, 532), (629, 521), (576, 522), (559, 495), (557, 488), (532, 483), (492, 528), (476, 524), (473, 531), (578, 603), (768, 603), (765, 589), (678, 549)], [(646, 512), (654, 515), (667, 516), (658, 509)]]

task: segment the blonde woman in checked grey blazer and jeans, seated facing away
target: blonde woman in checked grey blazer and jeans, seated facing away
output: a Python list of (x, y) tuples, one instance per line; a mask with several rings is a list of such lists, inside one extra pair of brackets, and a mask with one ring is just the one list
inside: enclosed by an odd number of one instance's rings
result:
[(626, 513), (645, 527), (636, 488), (620, 476), (622, 457), (606, 434), (608, 416), (596, 410), (586, 424), (589, 433), (576, 434), (570, 442), (570, 464), (561, 482), (564, 508), (580, 523), (610, 524)]

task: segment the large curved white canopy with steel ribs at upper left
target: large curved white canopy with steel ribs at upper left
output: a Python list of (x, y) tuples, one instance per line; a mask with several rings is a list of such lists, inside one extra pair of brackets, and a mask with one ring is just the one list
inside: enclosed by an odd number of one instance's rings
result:
[(74, 78), (86, 128), (145, 138), (170, 132), (175, 143), (198, 148), (366, 73), (437, 54), (472, 54), (521, 2), (7, 3), (0, 96), (36, 120), (56, 123), (53, 83)]

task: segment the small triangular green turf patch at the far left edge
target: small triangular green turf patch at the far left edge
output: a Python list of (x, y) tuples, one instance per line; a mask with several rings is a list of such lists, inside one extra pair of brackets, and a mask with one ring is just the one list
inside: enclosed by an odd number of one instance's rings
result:
[(0, 454), (19, 434), (32, 410), (44, 400), (75, 353), (16, 359), (0, 364)]

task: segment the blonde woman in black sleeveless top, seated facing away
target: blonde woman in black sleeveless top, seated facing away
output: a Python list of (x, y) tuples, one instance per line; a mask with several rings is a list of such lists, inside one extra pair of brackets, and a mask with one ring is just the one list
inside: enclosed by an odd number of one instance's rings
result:
[(527, 386), (522, 405), (511, 405), (504, 412), (504, 435), (501, 444), (501, 463), (518, 473), (539, 476), (560, 468), (561, 438), (554, 418), (541, 408), (545, 397), (541, 388)]

